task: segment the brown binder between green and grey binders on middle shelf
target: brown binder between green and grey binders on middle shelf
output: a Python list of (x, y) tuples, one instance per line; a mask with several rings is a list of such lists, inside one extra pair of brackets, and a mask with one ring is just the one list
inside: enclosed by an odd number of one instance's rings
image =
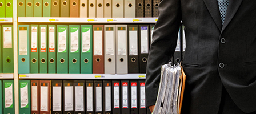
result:
[(93, 25), (93, 74), (104, 74), (103, 25)]

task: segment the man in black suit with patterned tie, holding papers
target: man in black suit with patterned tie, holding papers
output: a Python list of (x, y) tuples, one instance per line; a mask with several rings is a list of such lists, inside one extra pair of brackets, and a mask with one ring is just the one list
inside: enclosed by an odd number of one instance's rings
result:
[(163, 0), (146, 74), (153, 111), (161, 65), (169, 62), (185, 25), (186, 74), (181, 113), (256, 113), (256, 1)]

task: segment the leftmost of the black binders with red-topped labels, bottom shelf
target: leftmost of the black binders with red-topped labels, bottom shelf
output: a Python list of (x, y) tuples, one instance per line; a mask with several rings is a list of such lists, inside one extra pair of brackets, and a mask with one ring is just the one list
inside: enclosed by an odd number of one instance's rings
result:
[(121, 113), (121, 83), (120, 81), (112, 81), (112, 112), (113, 114)]

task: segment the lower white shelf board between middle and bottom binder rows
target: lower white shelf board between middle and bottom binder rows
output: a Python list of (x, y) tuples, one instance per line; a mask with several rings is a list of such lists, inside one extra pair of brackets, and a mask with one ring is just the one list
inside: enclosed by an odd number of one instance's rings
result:
[(19, 74), (19, 79), (146, 79), (146, 74)]

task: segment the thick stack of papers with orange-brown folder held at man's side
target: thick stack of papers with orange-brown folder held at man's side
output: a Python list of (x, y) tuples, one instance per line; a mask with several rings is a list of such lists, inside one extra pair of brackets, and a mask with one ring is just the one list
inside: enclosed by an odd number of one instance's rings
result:
[(157, 101), (153, 114), (180, 113), (186, 76), (179, 64), (162, 65)]

